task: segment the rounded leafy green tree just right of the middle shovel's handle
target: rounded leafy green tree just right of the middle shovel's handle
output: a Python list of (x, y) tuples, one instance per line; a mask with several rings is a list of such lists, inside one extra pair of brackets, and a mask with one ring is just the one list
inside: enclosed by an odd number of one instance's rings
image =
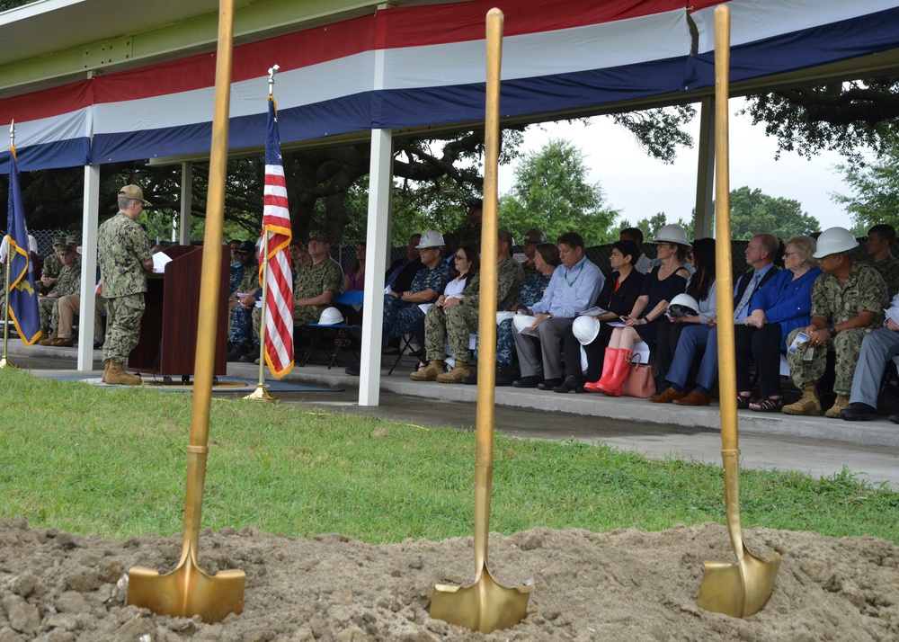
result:
[(603, 207), (599, 183), (587, 183), (583, 152), (566, 140), (551, 140), (521, 158), (512, 192), (500, 199), (499, 218), (516, 238), (540, 227), (554, 239), (568, 231), (587, 246), (618, 240), (610, 230), (618, 212)]

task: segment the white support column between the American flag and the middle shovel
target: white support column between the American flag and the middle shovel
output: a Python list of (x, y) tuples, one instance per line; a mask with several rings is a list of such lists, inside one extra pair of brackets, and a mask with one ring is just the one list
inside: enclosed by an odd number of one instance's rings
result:
[[(371, 248), (368, 256), (369, 265), (387, 265), (392, 192), (393, 132), (391, 129), (372, 129), (369, 223), (366, 232), (366, 246)], [(360, 406), (378, 406), (380, 402), (383, 317), (384, 270), (366, 270), (365, 306), (362, 308), (362, 349), (360, 352)]]

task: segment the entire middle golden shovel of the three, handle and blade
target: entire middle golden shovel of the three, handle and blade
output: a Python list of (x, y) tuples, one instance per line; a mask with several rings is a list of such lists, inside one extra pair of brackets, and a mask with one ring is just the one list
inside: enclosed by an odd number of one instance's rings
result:
[[(496, 172), (499, 160), (500, 65), (503, 57), (503, 12), (487, 12), (487, 85), (485, 112), (484, 217), (481, 255), (497, 255)], [(509, 588), (487, 569), (490, 495), (494, 477), (494, 381), (496, 373), (496, 261), (481, 266), (478, 307), (480, 354), (477, 360), (475, 454), (475, 582), (468, 586), (436, 584), (431, 617), (481, 633), (508, 629), (524, 620), (532, 585)]]

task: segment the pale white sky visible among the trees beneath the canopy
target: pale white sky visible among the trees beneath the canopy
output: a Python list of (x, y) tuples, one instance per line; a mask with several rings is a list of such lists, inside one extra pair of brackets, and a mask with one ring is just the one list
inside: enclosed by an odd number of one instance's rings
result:
[[(823, 229), (851, 227), (852, 221), (842, 206), (830, 197), (832, 192), (851, 193), (835, 167), (842, 162), (841, 156), (823, 152), (806, 160), (794, 152), (784, 152), (775, 160), (777, 139), (765, 136), (763, 126), (752, 126), (748, 116), (736, 115), (742, 105), (737, 100), (730, 104), (731, 190), (748, 185), (769, 196), (795, 199), (806, 213), (821, 222)], [(522, 153), (537, 151), (551, 139), (574, 142), (589, 167), (588, 180), (600, 183), (607, 206), (621, 212), (619, 221), (627, 219), (633, 224), (660, 211), (672, 223), (678, 218), (690, 218), (696, 200), (699, 113), (689, 128), (694, 147), (681, 148), (673, 165), (648, 156), (636, 138), (610, 117), (595, 117), (589, 125), (547, 122), (542, 127), (532, 125), (525, 130)], [(500, 166), (501, 195), (512, 188), (514, 167), (515, 164)]]

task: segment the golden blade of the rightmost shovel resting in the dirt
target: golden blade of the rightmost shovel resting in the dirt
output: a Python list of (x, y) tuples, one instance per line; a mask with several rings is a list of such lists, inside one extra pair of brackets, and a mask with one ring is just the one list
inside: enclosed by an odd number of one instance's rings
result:
[(770, 559), (764, 560), (746, 548), (743, 548), (743, 558), (736, 564), (706, 562), (696, 603), (706, 611), (748, 618), (761, 611), (768, 602), (779, 569), (777, 553), (771, 553)]

